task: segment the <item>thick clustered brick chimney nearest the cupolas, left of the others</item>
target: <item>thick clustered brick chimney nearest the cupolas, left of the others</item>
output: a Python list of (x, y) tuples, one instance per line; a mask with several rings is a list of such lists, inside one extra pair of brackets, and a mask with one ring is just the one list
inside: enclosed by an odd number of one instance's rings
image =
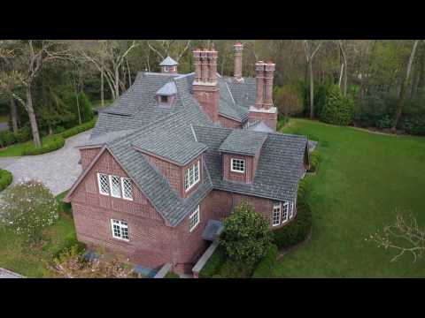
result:
[(195, 64), (193, 95), (205, 114), (213, 122), (217, 122), (219, 120), (220, 100), (220, 89), (217, 84), (218, 52), (214, 48), (195, 49), (193, 57)]

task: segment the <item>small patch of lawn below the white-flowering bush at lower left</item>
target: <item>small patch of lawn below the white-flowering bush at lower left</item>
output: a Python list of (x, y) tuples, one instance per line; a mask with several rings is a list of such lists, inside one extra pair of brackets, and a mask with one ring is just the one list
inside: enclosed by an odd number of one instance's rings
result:
[[(59, 194), (61, 201), (66, 193)], [(0, 228), (0, 267), (10, 269), (23, 276), (48, 277), (45, 261), (52, 261), (66, 244), (66, 238), (75, 237), (73, 219), (69, 216), (69, 207), (61, 203), (60, 218), (57, 223), (46, 229), (42, 246), (28, 247), (19, 237)]]

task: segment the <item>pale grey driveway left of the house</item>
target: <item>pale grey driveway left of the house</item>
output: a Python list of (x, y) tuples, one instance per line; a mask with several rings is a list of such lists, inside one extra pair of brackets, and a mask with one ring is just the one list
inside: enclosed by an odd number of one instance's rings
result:
[(89, 140), (91, 130), (66, 140), (65, 146), (44, 155), (0, 158), (0, 168), (12, 172), (13, 183), (23, 178), (42, 181), (54, 195), (73, 186), (81, 174), (80, 152), (75, 146)]

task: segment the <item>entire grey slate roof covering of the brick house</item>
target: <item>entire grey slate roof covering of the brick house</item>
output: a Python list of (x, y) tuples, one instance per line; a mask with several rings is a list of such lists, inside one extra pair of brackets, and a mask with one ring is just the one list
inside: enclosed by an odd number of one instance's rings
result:
[[(213, 188), (295, 200), (305, 137), (221, 128), (193, 97), (193, 80), (194, 73), (139, 72), (132, 87), (99, 114), (90, 140), (81, 146), (104, 145), (171, 226), (180, 223)], [(245, 78), (244, 83), (236, 84), (233, 78), (219, 76), (218, 83), (220, 114), (246, 120), (249, 108), (255, 104), (255, 79)], [(169, 109), (158, 107), (156, 100), (158, 90), (164, 87), (167, 91), (173, 87), (176, 92)], [(222, 179), (220, 146), (243, 154), (261, 148), (251, 185)], [(182, 199), (143, 151), (178, 164), (204, 153), (203, 183)]]

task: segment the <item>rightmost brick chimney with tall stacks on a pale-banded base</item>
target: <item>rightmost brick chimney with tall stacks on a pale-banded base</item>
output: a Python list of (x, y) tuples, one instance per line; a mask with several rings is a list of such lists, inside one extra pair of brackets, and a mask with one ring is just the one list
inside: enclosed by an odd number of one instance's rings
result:
[(259, 61), (255, 64), (257, 97), (255, 106), (251, 106), (248, 114), (248, 122), (263, 121), (266, 125), (276, 130), (277, 110), (273, 106), (273, 78), (275, 64)]

